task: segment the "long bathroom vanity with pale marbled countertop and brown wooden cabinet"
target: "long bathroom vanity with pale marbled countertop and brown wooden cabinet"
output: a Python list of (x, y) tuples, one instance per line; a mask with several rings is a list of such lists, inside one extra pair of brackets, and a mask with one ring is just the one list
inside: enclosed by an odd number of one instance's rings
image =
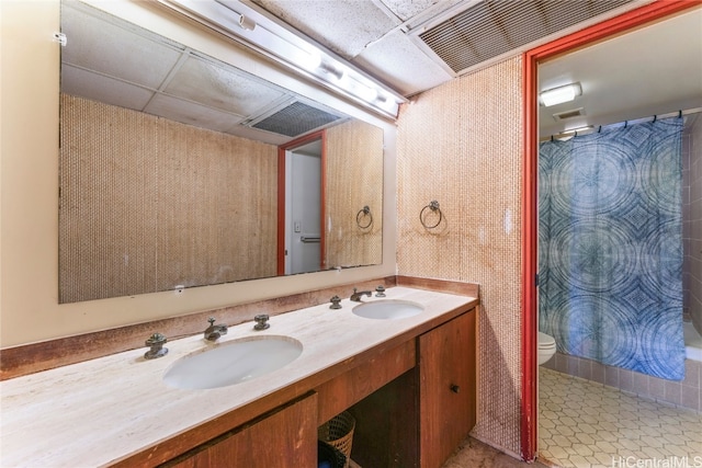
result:
[[(317, 427), (349, 410), (362, 467), (440, 467), (476, 418), (477, 298), (410, 287), (387, 298), (421, 313), (370, 319), (341, 301), (3, 381), (2, 458), (42, 466), (316, 467)], [(251, 336), (288, 336), (295, 361), (236, 385), (167, 386), (183, 356)]]

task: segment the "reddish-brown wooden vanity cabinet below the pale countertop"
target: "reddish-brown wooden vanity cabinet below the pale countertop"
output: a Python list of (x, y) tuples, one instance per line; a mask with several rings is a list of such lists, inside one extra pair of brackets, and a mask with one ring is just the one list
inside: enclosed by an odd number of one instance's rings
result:
[(361, 466), (441, 467), (475, 425), (476, 309), (310, 390), (163, 466), (316, 467), (317, 426), (348, 409)]

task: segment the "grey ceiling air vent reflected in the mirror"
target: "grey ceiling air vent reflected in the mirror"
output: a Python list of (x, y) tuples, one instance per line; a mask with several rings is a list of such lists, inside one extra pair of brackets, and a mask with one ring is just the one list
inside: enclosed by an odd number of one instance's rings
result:
[(296, 101), (274, 114), (256, 122), (251, 127), (288, 137), (296, 137), (340, 118), (342, 117)]

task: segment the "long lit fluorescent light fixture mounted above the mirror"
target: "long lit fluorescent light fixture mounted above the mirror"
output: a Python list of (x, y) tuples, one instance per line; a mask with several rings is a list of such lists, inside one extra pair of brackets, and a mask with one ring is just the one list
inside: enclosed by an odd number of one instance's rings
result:
[[(1, 1), (1, 0), (0, 0)], [(241, 0), (158, 0), (384, 116), (407, 99), (302, 33)]]

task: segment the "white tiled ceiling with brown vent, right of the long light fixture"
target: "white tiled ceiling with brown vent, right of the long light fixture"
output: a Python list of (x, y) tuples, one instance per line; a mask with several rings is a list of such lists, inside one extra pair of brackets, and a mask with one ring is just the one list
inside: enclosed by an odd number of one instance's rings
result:
[[(405, 96), (526, 49), (633, 0), (242, 0)], [(596, 20), (600, 19), (600, 20)]]

